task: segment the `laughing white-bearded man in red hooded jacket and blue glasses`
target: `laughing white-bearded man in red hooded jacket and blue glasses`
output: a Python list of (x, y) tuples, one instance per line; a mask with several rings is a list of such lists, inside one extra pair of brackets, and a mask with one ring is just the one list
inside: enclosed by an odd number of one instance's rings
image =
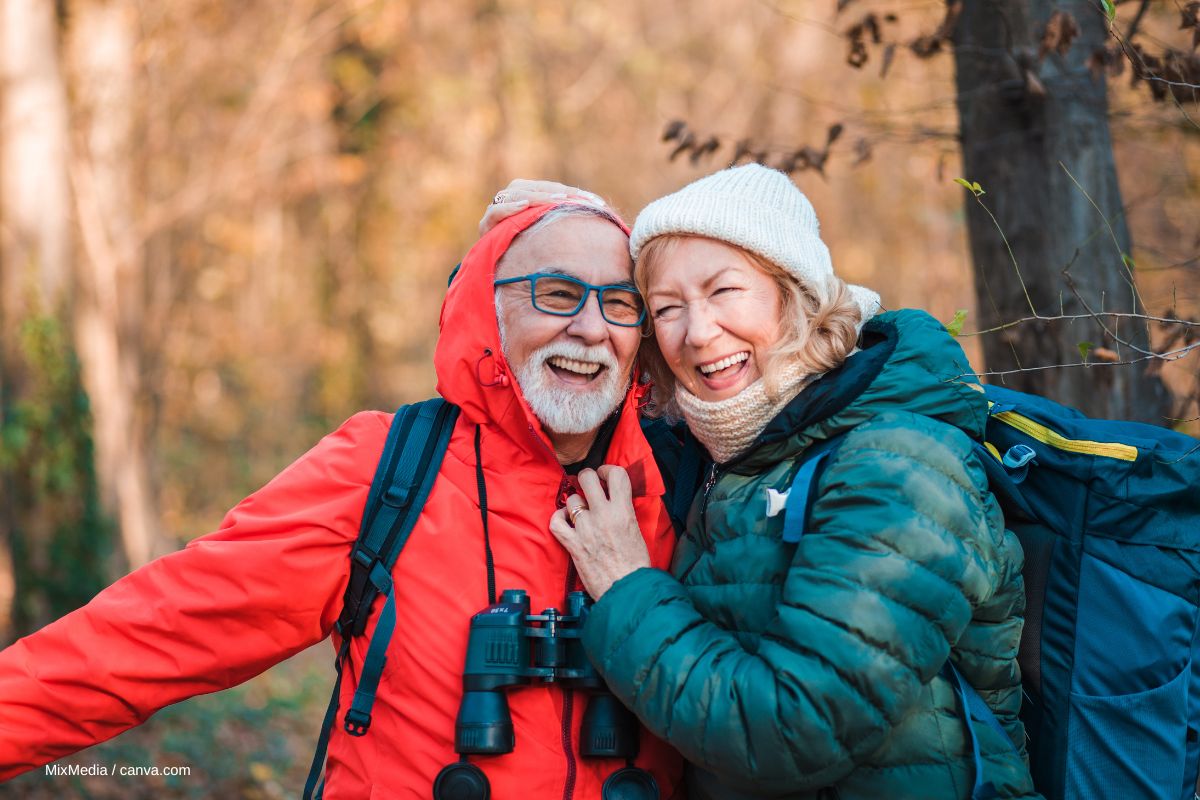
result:
[[(638, 425), (646, 386), (631, 380), (641, 299), (630, 283), (626, 235), (607, 212), (536, 206), (498, 224), (463, 260), (434, 355), (438, 392), (461, 415), (392, 570), (404, 612), (373, 723), (361, 738), (335, 726), (326, 800), (426, 799), (439, 771), (458, 759), (468, 621), (490, 602), (485, 522), (497, 588), (524, 589), (534, 609), (563, 608), (580, 585), (550, 517), (576, 474), (592, 481), (584, 468), (617, 464), (630, 476), (650, 560), (667, 566), (674, 534)], [(109, 739), (164, 705), (245, 681), (329, 637), (390, 419), (353, 416), (220, 529), (0, 652), (0, 780)], [(352, 642), (342, 709), (380, 604), (366, 636)], [(538, 684), (508, 696), (515, 750), (472, 759), (491, 796), (601, 798), (604, 781), (625, 764), (581, 757), (582, 693)], [(679, 757), (644, 732), (638, 765), (662, 798), (676, 796)]]

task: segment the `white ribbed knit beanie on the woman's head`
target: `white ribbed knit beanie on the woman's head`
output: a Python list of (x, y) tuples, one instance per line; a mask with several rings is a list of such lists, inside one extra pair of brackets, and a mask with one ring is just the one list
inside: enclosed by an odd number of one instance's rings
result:
[[(642, 209), (629, 236), (637, 260), (655, 236), (690, 234), (737, 245), (778, 264), (828, 299), (834, 278), (829, 248), (809, 198), (784, 173), (743, 164), (701, 178)], [(880, 312), (880, 295), (850, 287), (866, 321)]]

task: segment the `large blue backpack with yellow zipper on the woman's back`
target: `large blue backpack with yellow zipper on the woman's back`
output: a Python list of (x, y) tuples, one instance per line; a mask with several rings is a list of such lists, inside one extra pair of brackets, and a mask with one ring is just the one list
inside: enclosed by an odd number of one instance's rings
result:
[[(1048, 800), (1200, 794), (1200, 441), (985, 386), (977, 450), (1025, 549), (1018, 661), (1030, 766)], [(785, 516), (798, 540), (821, 462)], [(952, 664), (968, 729), (1001, 728)], [(991, 796), (978, 742), (973, 800)]]

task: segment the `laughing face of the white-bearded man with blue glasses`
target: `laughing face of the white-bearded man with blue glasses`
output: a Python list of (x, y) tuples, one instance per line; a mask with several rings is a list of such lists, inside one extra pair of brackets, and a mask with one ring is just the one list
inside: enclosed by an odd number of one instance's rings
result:
[[(496, 279), (535, 272), (632, 288), (629, 240), (616, 224), (596, 216), (566, 216), (535, 225), (509, 247)], [(558, 317), (534, 308), (529, 282), (518, 281), (497, 288), (496, 312), (504, 357), (548, 432), (593, 432), (620, 405), (641, 329), (605, 320), (595, 293), (588, 294), (574, 317)]]

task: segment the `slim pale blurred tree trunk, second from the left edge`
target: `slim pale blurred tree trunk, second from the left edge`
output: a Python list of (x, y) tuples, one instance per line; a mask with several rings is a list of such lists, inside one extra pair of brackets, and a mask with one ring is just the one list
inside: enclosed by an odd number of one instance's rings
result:
[(96, 469), (131, 569), (157, 555), (157, 511), (140, 411), (143, 247), (132, 224), (132, 8), (121, 0), (76, 5), (70, 54), (78, 138), (71, 162), (85, 258), (76, 331), (96, 419)]

